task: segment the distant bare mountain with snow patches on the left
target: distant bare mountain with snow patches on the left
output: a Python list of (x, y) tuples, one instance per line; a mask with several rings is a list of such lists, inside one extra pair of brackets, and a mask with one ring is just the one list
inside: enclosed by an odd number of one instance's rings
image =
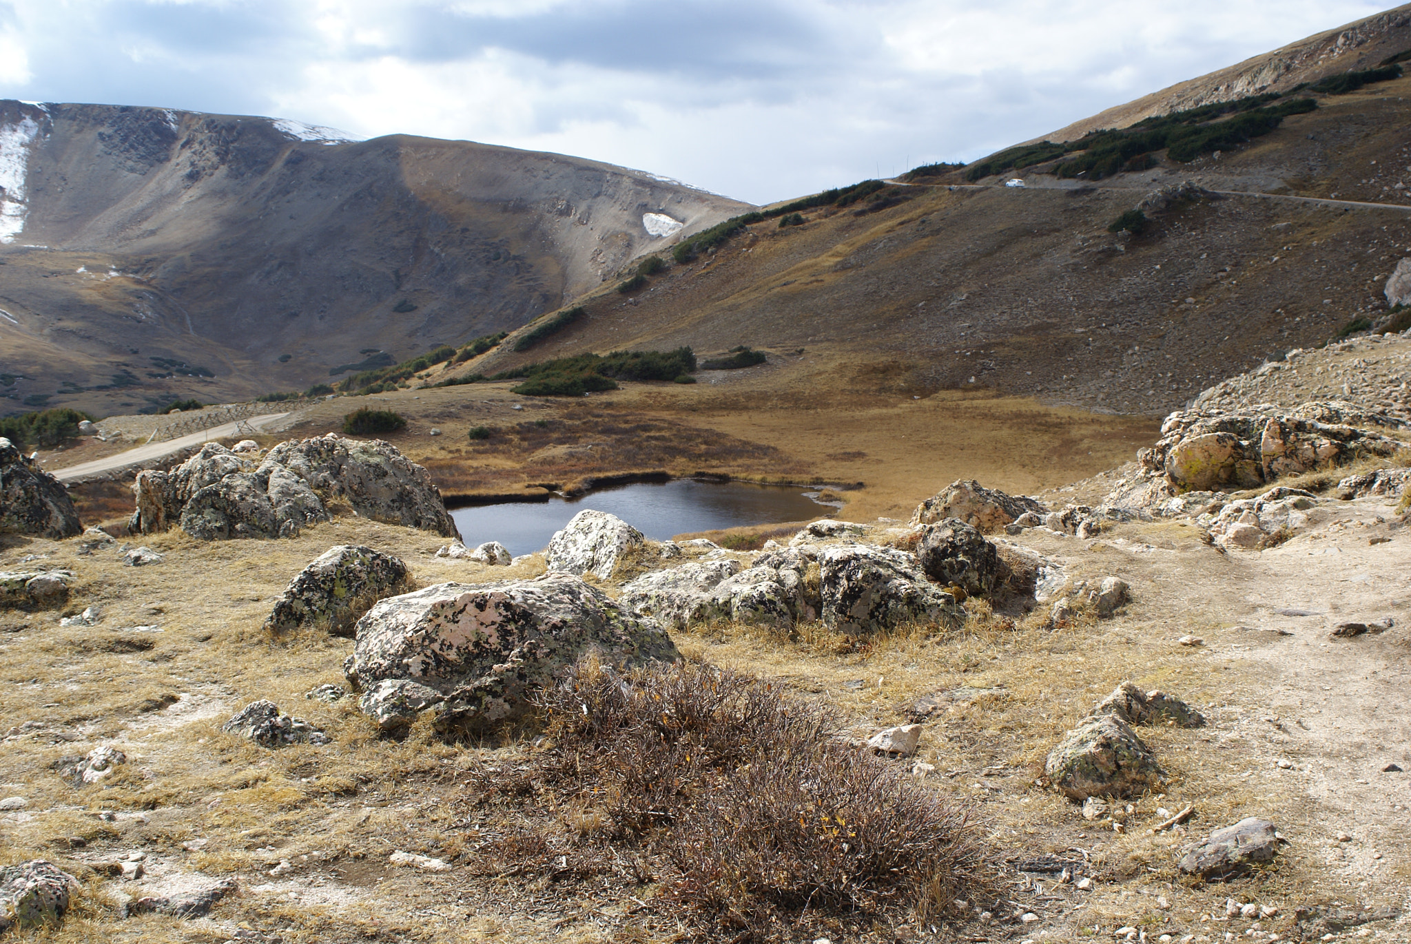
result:
[(0, 102), (0, 392), (134, 412), (514, 329), (749, 209), (557, 154)]

